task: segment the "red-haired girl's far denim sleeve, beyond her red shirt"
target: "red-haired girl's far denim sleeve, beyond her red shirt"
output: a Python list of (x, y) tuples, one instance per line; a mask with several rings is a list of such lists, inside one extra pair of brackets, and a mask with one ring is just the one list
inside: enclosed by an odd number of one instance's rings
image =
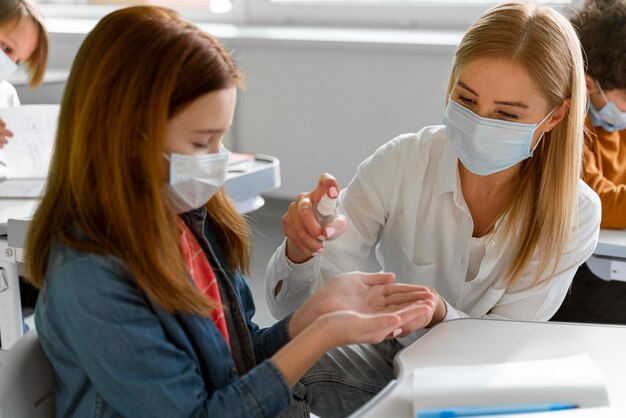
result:
[(291, 315), (283, 318), (269, 328), (260, 329), (257, 324), (252, 321), (255, 313), (254, 300), (250, 288), (246, 284), (243, 276), (237, 274), (235, 276), (235, 287), (239, 294), (246, 323), (252, 336), (252, 344), (254, 345), (255, 357), (257, 363), (260, 363), (274, 355), (282, 346), (290, 340), (287, 326), (291, 320)]

